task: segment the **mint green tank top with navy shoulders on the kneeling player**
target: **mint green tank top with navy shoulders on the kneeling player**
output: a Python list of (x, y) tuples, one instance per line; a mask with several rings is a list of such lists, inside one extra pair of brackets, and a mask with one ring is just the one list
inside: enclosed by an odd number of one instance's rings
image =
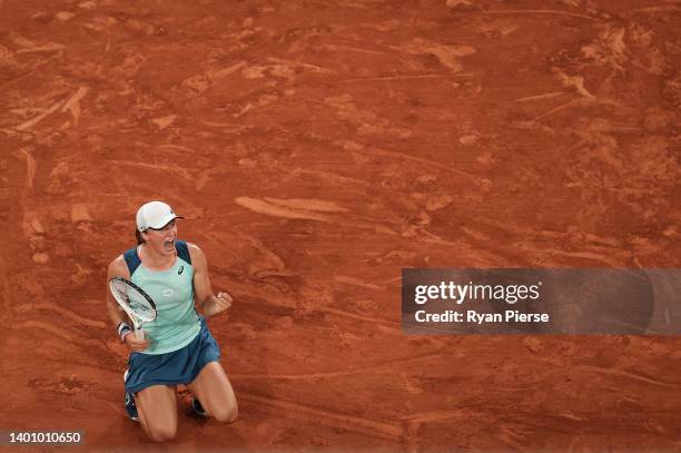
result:
[[(126, 253), (126, 260), (130, 257), (136, 262), (136, 266), (130, 266), (128, 260), (130, 280), (151, 296), (156, 304), (156, 319), (142, 324), (145, 337), (150, 341), (144, 354), (165, 354), (182, 348), (201, 329), (194, 307), (194, 267), (189, 263), (188, 248), (184, 242), (176, 242), (176, 247), (178, 255), (175, 264), (166, 270), (145, 267), (136, 249)], [(130, 252), (135, 256), (130, 256)]]

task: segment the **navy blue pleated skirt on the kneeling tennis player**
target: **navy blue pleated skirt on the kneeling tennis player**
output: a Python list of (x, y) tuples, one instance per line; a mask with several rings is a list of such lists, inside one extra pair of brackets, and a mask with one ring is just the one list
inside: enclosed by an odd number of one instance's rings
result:
[(220, 360), (220, 348), (201, 316), (201, 329), (187, 346), (166, 354), (132, 353), (128, 360), (126, 392), (151, 385), (189, 384), (207, 363)]

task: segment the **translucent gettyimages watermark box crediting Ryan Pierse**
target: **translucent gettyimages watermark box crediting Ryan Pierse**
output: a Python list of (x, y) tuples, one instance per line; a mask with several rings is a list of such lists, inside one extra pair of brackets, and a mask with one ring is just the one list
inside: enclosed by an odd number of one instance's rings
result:
[(414, 334), (681, 334), (681, 269), (402, 269)]

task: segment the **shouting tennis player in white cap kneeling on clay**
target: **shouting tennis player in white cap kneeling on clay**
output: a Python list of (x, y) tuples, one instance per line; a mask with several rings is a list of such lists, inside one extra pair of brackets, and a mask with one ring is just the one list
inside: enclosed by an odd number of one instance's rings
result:
[(111, 262), (107, 278), (129, 279), (157, 307), (156, 319), (142, 325), (144, 339), (137, 339), (126, 313), (107, 292), (109, 316), (130, 349), (126, 410), (157, 442), (171, 440), (177, 432), (178, 384), (193, 393), (197, 414), (227, 423), (237, 417), (234, 390), (205, 321), (229, 308), (231, 297), (213, 294), (206, 256), (196, 245), (178, 240), (178, 218), (182, 217), (162, 201), (142, 205), (137, 211), (138, 244)]

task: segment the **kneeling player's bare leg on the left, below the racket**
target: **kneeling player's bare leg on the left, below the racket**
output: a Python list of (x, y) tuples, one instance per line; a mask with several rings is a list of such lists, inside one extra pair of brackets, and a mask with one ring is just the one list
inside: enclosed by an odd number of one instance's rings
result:
[(177, 433), (177, 390), (151, 385), (135, 394), (135, 404), (145, 433), (155, 442), (165, 442)]

